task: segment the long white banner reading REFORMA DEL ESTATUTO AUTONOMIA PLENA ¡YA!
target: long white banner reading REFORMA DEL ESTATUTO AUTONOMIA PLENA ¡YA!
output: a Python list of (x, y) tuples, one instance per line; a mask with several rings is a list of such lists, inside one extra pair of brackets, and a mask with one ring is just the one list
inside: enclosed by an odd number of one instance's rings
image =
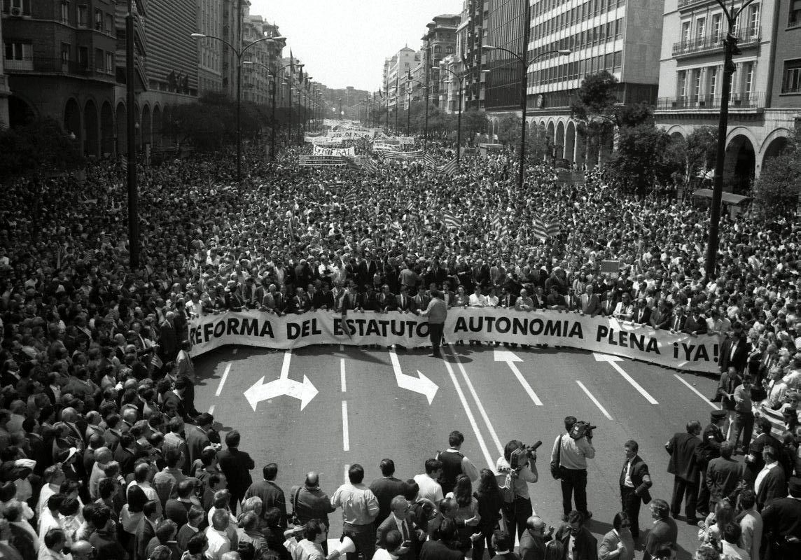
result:
[[(190, 321), (191, 355), (224, 344), (299, 348), (309, 344), (429, 344), (425, 317), (409, 312), (316, 311), (277, 316), (260, 311), (223, 312)], [(573, 312), (517, 312), (503, 308), (451, 308), (445, 340), (460, 339), (553, 344), (614, 354), (675, 369), (718, 371), (717, 336), (671, 334), (664, 330), (582, 316)]]

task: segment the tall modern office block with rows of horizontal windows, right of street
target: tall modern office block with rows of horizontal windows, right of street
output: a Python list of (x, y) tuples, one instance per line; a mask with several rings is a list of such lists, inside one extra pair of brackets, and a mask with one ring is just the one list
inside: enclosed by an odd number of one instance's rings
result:
[[(524, 2), (530, 6), (525, 22)], [(670, 1), (670, 0), (669, 0)], [(521, 48), (523, 25), (529, 44)], [(659, 78), (662, 2), (653, 0), (490, 0), (486, 44), (520, 54), (527, 66), (527, 126), (544, 127), (555, 157), (578, 167), (602, 162), (604, 147), (592, 147), (570, 117), (575, 90), (586, 75), (609, 71), (618, 79), (618, 103), (654, 103)], [(546, 54), (571, 50), (567, 56)], [(501, 50), (485, 54), (486, 110), (520, 113), (521, 62)], [(497, 119), (493, 119), (495, 121)]]

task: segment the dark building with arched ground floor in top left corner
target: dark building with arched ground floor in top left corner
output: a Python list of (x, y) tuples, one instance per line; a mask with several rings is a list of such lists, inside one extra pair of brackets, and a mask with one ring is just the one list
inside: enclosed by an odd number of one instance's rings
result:
[(83, 153), (113, 151), (119, 64), (115, 8), (110, 0), (2, 2), (12, 127), (53, 116)]

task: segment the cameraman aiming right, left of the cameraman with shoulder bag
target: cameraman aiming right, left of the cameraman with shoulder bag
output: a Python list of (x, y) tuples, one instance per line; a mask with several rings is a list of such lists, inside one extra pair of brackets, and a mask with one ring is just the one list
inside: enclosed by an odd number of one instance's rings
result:
[(517, 530), (517, 538), (520, 538), (525, 530), (526, 520), (533, 514), (528, 483), (539, 480), (537, 447), (540, 445), (541, 441), (531, 446), (519, 440), (509, 441), (504, 448), (503, 457), (498, 457), (495, 463), (498, 486), (504, 497), (501, 512), (510, 537)]

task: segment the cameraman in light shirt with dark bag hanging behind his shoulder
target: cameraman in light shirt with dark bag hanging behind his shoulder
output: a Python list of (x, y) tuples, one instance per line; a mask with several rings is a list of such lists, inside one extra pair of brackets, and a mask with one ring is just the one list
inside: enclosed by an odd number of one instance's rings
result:
[(551, 451), (551, 473), (562, 481), (562, 512), (573, 510), (571, 500), (576, 502), (576, 511), (585, 520), (593, 517), (587, 510), (587, 459), (595, 457), (593, 447), (594, 425), (579, 422), (576, 417), (565, 418), (565, 433), (553, 441)]

